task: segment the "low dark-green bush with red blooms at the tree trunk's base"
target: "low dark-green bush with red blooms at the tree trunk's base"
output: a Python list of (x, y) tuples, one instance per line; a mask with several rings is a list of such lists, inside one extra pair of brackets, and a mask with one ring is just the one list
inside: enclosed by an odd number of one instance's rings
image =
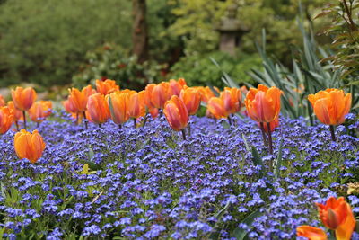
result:
[(114, 44), (89, 51), (86, 62), (80, 66), (80, 72), (73, 76), (73, 84), (83, 87), (94, 84), (96, 79), (109, 78), (118, 82), (121, 88), (141, 90), (145, 84), (159, 82), (162, 66), (156, 62), (144, 62), (139, 65), (136, 56)]

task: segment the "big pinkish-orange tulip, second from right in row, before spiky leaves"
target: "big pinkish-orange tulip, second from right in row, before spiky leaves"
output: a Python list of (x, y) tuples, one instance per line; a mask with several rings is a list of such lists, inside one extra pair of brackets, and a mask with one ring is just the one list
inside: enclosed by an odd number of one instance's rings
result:
[(283, 92), (275, 86), (268, 88), (259, 84), (258, 88), (250, 88), (245, 104), (248, 115), (258, 122), (271, 122), (275, 120), (280, 111), (280, 96)]

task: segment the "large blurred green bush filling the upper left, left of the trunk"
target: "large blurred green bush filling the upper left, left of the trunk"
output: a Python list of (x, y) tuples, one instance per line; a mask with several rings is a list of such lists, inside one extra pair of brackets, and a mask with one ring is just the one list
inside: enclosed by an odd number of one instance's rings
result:
[[(104, 4), (106, 3), (106, 4)], [(125, 0), (13, 0), (0, 7), (0, 83), (67, 84), (88, 49), (131, 45)]]

